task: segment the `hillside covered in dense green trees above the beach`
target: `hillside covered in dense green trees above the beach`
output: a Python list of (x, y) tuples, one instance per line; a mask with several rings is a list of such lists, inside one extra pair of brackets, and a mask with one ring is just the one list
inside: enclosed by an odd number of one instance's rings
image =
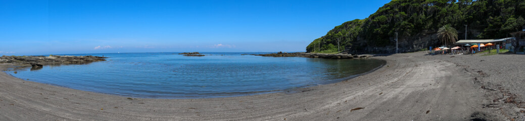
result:
[(315, 39), (307, 52), (394, 53), (395, 32), (400, 52), (439, 46), (436, 32), (450, 25), (458, 38), (506, 38), (525, 26), (523, 0), (393, 0), (365, 19), (347, 21)]

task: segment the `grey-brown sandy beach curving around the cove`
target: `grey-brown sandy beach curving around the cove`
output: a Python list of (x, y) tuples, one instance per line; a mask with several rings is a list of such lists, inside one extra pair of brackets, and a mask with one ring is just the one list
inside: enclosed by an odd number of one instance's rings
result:
[(387, 64), (338, 83), (224, 98), (124, 97), (0, 72), (0, 120), (525, 119), (524, 55), (425, 54), (372, 57)]

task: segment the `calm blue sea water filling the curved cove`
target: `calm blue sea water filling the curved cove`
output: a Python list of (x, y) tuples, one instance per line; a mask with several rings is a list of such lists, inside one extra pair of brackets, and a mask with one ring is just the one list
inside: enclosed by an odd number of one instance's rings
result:
[(69, 54), (110, 58), (81, 65), (46, 65), (40, 70), (17, 70), (16, 74), (6, 72), (23, 80), (83, 91), (148, 98), (207, 98), (334, 83), (385, 63), (374, 59), (204, 54), (204, 57), (176, 53)]

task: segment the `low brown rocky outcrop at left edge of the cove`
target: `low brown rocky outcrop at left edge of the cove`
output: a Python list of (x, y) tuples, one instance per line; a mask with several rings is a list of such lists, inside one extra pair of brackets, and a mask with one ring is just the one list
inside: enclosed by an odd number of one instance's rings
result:
[(33, 68), (42, 68), (48, 64), (87, 64), (97, 61), (106, 61), (106, 57), (97, 56), (2, 56), (0, 63), (10, 63), (20, 66), (31, 65)]

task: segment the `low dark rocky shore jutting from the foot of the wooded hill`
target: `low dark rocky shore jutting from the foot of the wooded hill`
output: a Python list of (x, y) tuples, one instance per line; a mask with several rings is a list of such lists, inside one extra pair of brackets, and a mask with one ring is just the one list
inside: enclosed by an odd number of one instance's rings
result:
[(255, 56), (266, 57), (308, 57), (308, 58), (323, 58), (323, 59), (353, 59), (353, 58), (368, 58), (371, 55), (352, 55), (352, 54), (327, 54), (327, 53), (306, 53), (306, 52), (279, 52), (270, 54), (253, 54)]

